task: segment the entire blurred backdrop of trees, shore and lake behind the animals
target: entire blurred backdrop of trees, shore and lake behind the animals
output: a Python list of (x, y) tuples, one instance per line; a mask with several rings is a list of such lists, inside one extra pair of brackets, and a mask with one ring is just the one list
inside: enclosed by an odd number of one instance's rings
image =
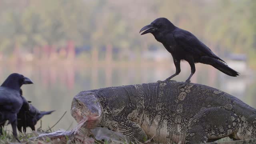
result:
[[(256, 1), (254, 0), (0, 0), (0, 83), (18, 72), (39, 110), (42, 128), (68, 129), (72, 98), (82, 90), (165, 80), (171, 55), (139, 30), (158, 17), (195, 34), (241, 76), (196, 64), (191, 82), (218, 88), (256, 108)], [(184, 81), (190, 66), (182, 62)], [(36, 128), (40, 126), (40, 122)]]

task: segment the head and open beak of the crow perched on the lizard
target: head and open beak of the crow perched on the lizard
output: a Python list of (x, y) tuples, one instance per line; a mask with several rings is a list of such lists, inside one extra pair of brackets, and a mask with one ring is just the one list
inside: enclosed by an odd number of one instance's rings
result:
[(151, 24), (144, 26), (140, 32), (145, 30), (141, 35), (147, 33), (155, 34), (163, 30), (174, 30), (174, 28), (175, 26), (167, 18), (157, 18)]

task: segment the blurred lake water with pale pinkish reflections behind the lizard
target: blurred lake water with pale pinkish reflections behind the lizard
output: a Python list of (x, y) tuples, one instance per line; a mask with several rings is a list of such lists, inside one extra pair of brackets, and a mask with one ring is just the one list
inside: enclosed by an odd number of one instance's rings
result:
[[(11, 67), (12, 66), (12, 67)], [(67, 114), (54, 127), (67, 129), (76, 125), (70, 115), (72, 98), (82, 90), (90, 90), (109, 86), (140, 84), (164, 80), (175, 72), (170, 63), (155, 64), (112, 64), (107, 66), (90, 66), (86, 64), (19, 64), (3, 65), (0, 69), (0, 83), (13, 72), (18, 72), (31, 78), (32, 85), (22, 86), (27, 100), (39, 110), (56, 110), (52, 115), (42, 118), (42, 128), (54, 125), (67, 111)], [(174, 80), (184, 81), (190, 74), (186, 62), (181, 65), (182, 72)], [(230, 77), (211, 66), (196, 64), (196, 73), (191, 82), (218, 88), (236, 96), (256, 108), (256, 81), (252, 76)], [(40, 126), (40, 122), (36, 128)], [(29, 128), (30, 130), (30, 128)]]

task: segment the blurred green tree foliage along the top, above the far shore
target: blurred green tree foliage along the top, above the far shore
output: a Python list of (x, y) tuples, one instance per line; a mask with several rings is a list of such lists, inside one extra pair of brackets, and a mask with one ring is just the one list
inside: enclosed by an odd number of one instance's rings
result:
[(255, 0), (0, 0), (0, 52), (31, 53), (44, 46), (56, 50), (68, 41), (96, 49), (143, 51), (160, 44), (140, 36), (140, 28), (166, 17), (213, 51), (220, 46), (220, 52), (246, 53), (255, 59), (255, 15)]

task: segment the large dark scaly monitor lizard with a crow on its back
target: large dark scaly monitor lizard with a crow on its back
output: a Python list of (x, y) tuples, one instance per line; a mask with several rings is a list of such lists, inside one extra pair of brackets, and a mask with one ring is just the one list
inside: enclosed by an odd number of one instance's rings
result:
[[(143, 142), (196, 144), (229, 136), (256, 138), (256, 109), (218, 89), (181, 82), (157, 82), (80, 92), (74, 111), (96, 117), (87, 128), (105, 126)], [(80, 105), (78, 105), (78, 102)], [(76, 109), (76, 110), (74, 110)], [(93, 118), (92, 118), (93, 119)]]

